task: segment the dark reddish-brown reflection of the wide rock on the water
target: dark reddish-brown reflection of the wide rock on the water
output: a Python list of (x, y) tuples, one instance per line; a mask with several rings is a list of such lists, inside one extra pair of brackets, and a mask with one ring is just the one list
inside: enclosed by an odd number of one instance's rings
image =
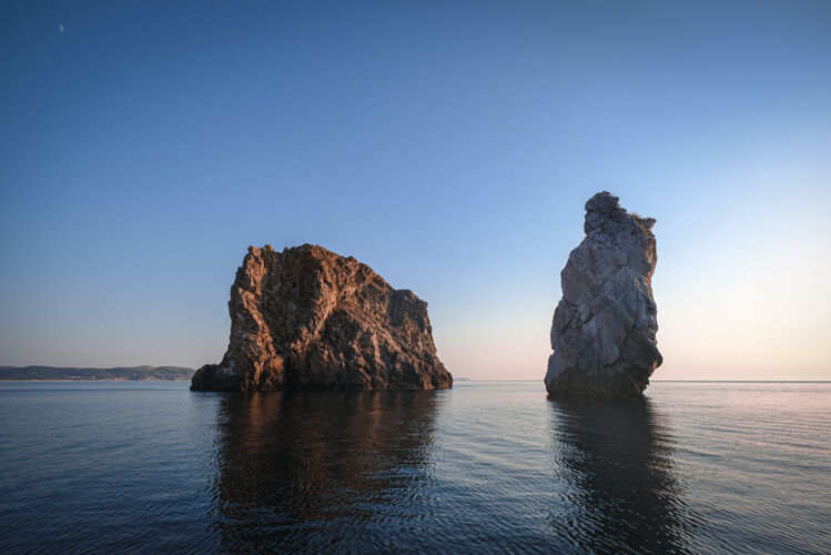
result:
[(418, 528), (428, 513), (440, 402), (429, 391), (223, 398), (213, 493), (223, 547), (395, 548), (388, 522)]

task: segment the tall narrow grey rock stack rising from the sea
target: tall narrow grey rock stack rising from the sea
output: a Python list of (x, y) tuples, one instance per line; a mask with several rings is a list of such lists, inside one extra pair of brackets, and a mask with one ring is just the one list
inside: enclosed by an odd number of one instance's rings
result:
[(586, 239), (563, 269), (554, 312), (549, 393), (640, 396), (662, 362), (656, 346), (651, 278), (655, 220), (629, 214), (618, 198), (586, 203)]

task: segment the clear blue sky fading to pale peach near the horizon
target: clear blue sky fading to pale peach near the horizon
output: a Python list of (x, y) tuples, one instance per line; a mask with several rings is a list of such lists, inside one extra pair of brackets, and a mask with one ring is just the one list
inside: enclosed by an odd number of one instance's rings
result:
[(543, 380), (608, 190), (655, 218), (655, 380), (831, 380), (831, 2), (0, 3), (0, 364), (197, 367), (249, 245)]

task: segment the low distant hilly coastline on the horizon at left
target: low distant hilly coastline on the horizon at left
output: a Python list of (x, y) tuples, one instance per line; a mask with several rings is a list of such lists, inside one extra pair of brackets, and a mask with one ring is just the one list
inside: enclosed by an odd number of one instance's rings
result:
[(190, 380), (193, 373), (194, 370), (182, 366), (118, 366), (114, 369), (0, 366), (0, 382), (21, 382), (27, 380), (184, 381)]

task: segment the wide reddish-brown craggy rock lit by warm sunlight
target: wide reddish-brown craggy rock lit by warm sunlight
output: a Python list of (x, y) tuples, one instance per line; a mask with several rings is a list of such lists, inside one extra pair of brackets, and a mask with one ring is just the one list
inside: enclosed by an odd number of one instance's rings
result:
[(231, 339), (191, 390), (429, 390), (453, 385), (427, 303), (322, 246), (251, 246), (231, 287)]

